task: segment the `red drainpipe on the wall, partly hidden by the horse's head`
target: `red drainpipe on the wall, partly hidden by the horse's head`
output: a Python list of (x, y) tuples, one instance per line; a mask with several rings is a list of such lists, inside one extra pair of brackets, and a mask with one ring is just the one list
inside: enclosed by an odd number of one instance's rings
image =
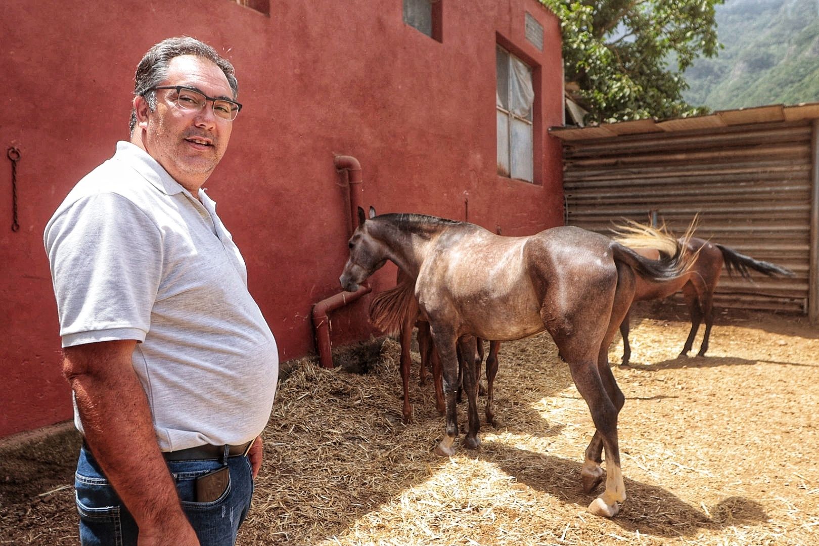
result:
[[(358, 227), (358, 208), (364, 208), (364, 187), (362, 184), (361, 165), (355, 157), (335, 156), (333, 163), (339, 173), (346, 174), (350, 187), (350, 236)], [(358, 300), (364, 294), (369, 294), (372, 288), (369, 283), (362, 282), (355, 292), (342, 291), (313, 305), (313, 327), (315, 330), (315, 344), (319, 353), (319, 363), (322, 368), (333, 368), (333, 348), (330, 345), (330, 318), (328, 313)]]

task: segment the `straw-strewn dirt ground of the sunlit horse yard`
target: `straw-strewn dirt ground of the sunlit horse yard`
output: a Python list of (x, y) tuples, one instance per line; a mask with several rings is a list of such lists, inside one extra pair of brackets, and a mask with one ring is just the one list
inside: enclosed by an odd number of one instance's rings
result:
[[(238, 544), (819, 544), (819, 327), (722, 312), (708, 356), (683, 359), (686, 321), (679, 306), (645, 305), (632, 314), (631, 367), (616, 365), (622, 342), (610, 351), (627, 397), (618, 517), (586, 512), (593, 429), (548, 336), (503, 345), (500, 424), (446, 459), (432, 453), (443, 420), (416, 372), (414, 422), (400, 422), (387, 340), (348, 353), (343, 369), (283, 369)], [(79, 544), (78, 444), (72, 431), (0, 443), (0, 544)]]

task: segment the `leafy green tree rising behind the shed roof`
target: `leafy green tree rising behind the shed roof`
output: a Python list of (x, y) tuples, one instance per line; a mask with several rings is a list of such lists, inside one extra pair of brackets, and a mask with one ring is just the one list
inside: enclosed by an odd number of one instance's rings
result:
[(561, 21), (563, 66), (586, 122), (698, 115), (682, 73), (717, 55), (714, 7), (724, 0), (541, 0)]

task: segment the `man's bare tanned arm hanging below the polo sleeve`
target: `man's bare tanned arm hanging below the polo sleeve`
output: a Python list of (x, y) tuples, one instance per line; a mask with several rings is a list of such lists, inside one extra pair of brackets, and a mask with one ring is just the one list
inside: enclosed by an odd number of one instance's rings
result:
[(139, 526), (140, 546), (198, 546), (156, 443), (145, 391), (133, 372), (136, 343), (66, 347), (63, 373), (75, 392), (86, 442)]

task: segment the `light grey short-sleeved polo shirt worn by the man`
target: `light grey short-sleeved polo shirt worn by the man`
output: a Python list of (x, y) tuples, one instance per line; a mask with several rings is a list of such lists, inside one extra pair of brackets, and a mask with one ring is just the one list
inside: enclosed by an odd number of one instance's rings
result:
[[(163, 451), (265, 428), (278, 350), (216, 204), (141, 148), (79, 181), (45, 229), (62, 345), (137, 340), (133, 369)], [(75, 408), (75, 422), (82, 423)]]

